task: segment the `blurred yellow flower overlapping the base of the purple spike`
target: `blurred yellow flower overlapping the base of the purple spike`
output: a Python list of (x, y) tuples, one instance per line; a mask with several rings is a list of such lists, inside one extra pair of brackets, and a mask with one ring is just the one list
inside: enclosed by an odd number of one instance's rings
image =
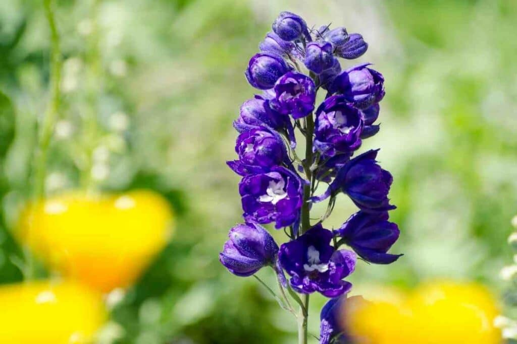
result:
[[(500, 344), (497, 302), (477, 284), (436, 282), (413, 292), (377, 290), (382, 299), (349, 298), (346, 331), (360, 344)], [(386, 295), (389, 297), (385, 297)]]

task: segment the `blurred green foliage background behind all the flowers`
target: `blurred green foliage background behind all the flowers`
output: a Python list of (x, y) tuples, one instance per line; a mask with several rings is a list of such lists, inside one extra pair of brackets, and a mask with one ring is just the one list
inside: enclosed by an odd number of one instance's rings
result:
[[(176, 234), (103, 330), (103, 343), (291, 343), (296, 324), (218, 252), (241, 221), (232, 121), (253, 95), (248, 59), (282, 10), (360, 32), (386, 78), (382, 130), (364, 148), (394, 176), (401, 239), (390, 266), (360, 262), (357, 288), (437, 277), (504, 287), (517, 213), (517, 2), (513, 0), (58, 1), (63, 105), (47, 192), (94, 178), (104, 190), (168, 198)], [(12, 231), (31, 194), (36, 123), (48, 101), (49, 31), (40, 2), (0, 2), (0, 281), (22, 279)], [(343, 62), (343, 61), (342, 61)], [(352, 62), (355, 63), (355, 62)], [(344, 61), (342, 65), (351, 65)], [(95, 130), (83, 119), (94, 113)], [(11, 121), (12, 120), (12, 121)], [(12, 132), (12, 128), (15, 128)], [(10, 135), (13, 141), (10, 146)], [(7, 150), (8, 149), (8, 150)], [(327, 221), (354, 207), (342, 197)], [(276, 236), (282, 240), (283, 233)], [(269, 271), (259, 273), (273, 285)], [(315, 296), (310, 332), (317, 333)]]

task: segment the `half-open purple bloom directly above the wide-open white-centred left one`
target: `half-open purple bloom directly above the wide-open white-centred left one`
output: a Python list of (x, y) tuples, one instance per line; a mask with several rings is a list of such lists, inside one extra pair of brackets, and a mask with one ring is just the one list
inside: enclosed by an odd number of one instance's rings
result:
[(227, 165), (240, 175), (268, 172), (273, 166), (282, 165), (287, 157), (284, 141), (266, 128), (254, 128), (237, 137), (235, 152), (239, 160), (227, 161)]

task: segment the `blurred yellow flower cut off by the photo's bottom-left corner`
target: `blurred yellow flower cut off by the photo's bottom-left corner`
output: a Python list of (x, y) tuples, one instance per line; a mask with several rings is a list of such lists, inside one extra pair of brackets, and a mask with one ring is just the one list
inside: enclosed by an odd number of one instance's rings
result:
[(0, 287), (0, 343), (86, 344), (107, 315), (98, 291), (73, 282)]

